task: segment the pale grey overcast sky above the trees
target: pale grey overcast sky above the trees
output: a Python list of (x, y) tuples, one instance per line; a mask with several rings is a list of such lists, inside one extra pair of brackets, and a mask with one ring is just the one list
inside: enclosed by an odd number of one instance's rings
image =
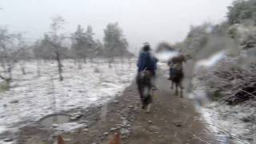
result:
[(49, 30), (56, 14), (66, 33), (91, 25), (102, 40), (109, 22), (118, 22), (135, 49), (142, 42), (182, 41), (191, 25), (222, 22), (233, 0), (0, 0), (0, 26), (22, 32), (30, 42)]

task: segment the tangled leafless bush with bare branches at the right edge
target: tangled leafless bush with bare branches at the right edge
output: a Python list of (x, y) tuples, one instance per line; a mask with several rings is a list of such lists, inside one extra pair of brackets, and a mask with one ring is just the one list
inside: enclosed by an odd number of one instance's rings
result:
[(256, 63), (244, 67), (238, 61), (239, 58), (226, 58), (208, 70), (205, 79), (208, 94), (232, 105), (256, 98)]

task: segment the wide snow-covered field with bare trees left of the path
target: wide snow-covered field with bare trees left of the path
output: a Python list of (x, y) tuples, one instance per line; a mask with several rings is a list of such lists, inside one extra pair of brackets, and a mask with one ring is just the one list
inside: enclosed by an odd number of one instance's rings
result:
[(106, 102), (129, 86), (136, 72), (134, 60), (116, 59), (111, 69), (102, 59), (82, 63), (81, 70), (73, 60), (62, 63), (62, 82), (54, 61), (39, 62), (39, 66), (36, 61), (23, 62), (26, 75), (15, 65), (10, 90), (0, 92), (0, 134), (47, 114)]

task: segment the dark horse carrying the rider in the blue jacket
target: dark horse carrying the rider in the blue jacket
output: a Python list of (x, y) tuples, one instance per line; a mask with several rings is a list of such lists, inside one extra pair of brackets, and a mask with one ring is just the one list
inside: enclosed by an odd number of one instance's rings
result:
[(152, 77), (154, 72), (151, 70), (143, 70), (137, 75), (138, 92), (142, 101), (142, 109), (146, 108), (146, 112), (150, 112), (152, 103)]

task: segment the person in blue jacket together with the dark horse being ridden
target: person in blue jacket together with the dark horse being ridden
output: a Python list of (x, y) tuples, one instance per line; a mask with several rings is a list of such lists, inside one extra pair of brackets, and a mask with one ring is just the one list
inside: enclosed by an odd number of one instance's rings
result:
[(152, 78), (154, 78), (156, 70), (156, 60), (150, 54), (150, 46), (145, 45), (138, 58), (138, 74), (136, 82), (138, 92), (142, 101), (142, 109), (146, 108), (146, 112), (150, 112), (152, 103), (153, 87)]

